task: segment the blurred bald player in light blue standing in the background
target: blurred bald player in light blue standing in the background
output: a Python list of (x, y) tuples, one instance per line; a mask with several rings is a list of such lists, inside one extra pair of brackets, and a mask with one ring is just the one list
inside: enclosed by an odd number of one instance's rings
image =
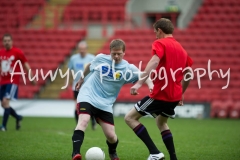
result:
[[(86, 65), (90, 63), (94, 59), (94, 57), (95, 57), (94, 55), (87, 53), (87, 43), (85, 41), (81, 41), (78, 44), (78, 53), (72, 55), (68, 63), (68, 68), (70, 70), (73, 70), (74, 74), (76, 74), (76, 77), (73, 80), (73, 84), (72, 84), (73, 99), (75, 101), (74, 116), (75, 116), (76, 122), (78, 122), (78, 114), (77, 114), (78, 91), (75, 90), (75, 86), (81, 77), (81, 72), (84, 71), (84, 68), (86, 67)], [(96, 121), (94, 117), (91, 117), (91, 120), (92, 120), (92, 129), (94, 130), (96, 127)]]

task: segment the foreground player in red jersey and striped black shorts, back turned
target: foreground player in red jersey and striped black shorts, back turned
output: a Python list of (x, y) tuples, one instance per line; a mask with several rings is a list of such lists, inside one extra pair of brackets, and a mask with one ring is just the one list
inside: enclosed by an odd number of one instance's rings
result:
[(188, 80), (190, 79), (188, 76), (190, 69), (186, 67), (191, 67), (193, 61), (181, 44), (173, 38), (174, 26), (170, 20), (161, 18), (153, 27), (157, 40), (152, 44), (152, 58), (142, 75), (145, 78), (131, 87), (131, 94), (138, 94), (138, 89), (152, 70), (156, 70), (158, 76), (153, 81), (152, 92), (135, 104), (134, 108), (125, 116), (125, 122), (147, 146), (150, 152), (148, 160), (162, 160), (164, 154), (157, 149), (146, 128), (139, 122), (142, 116), (152, 115), (156, 119), (157, 127), (161, 132), (171, 160), (176, 160), (173, 136), (167, 125), (167, 120), (169, 117), (174, 118), (174, 108), (177, 105), (183, 105), (183, 94), (190, 82)]

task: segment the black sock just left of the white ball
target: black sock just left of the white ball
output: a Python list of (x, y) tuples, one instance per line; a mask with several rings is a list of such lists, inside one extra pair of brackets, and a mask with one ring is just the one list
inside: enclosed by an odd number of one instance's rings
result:
[(75, 130), (72, 136), (73, 142), (73, 154), (80, 153), (80, 148), (83, 143), (84, 132), (81, 130)]

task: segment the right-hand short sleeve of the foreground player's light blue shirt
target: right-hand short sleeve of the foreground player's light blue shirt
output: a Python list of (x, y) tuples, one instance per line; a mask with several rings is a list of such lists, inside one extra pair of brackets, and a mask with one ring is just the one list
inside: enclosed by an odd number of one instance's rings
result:
[(139, 74), (140, 74), (140, 71), (139, 69), (133, 65), (133, 64), (130, 64), (129, 65), (129, 68), (128, 68), (128, 71), (126, 71), (126, 74), (125, 74), (125, 84), (126, 83), (135, 83), (138, 81), (138, 78), (139, 78)]

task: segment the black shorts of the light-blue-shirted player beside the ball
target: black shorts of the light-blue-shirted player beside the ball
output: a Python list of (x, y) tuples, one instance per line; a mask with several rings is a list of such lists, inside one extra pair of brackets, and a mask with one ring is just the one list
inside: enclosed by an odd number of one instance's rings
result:
[(78, 114), (89, 114), (90, 116), (93, 116), (97, 122), (100, 119), (105, 123), (114, 125), (112, 113), (98, 109), (88, 102), (78, 103), (77, 111), (78, 111)]

